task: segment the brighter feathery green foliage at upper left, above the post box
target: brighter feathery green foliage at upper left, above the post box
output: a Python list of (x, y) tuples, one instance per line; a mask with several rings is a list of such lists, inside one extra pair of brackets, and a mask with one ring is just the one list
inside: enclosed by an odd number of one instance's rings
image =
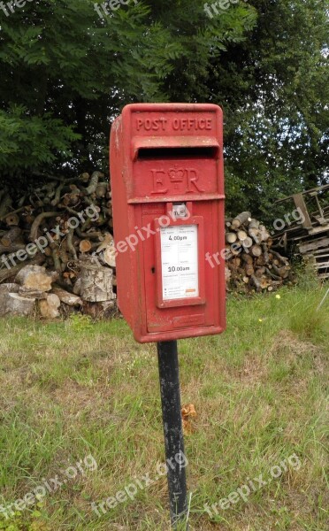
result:
[(0, 11), (0, 171), (106, 165), (119, 110), (188, 100), (196, 88), (203, 99), (210, 57), (241, 41), (252, 12), (233, 8), (210, 24), (198, 0), (170, 10), (163, 1), (131, 2), (103, 19), (92, 0), (34, 0), (8, 17)]

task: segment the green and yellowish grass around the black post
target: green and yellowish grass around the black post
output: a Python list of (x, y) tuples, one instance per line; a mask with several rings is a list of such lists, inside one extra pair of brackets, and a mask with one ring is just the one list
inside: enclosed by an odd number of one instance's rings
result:
[[(329, 300), (316, 311), (325, 290), (232, 296), (225, 334), (179, 342), (182, 404), (197, 412), (185, 441), (190, 531), (327, 529)], [(155, 345), (134, 342), (123, 319), (5, 319), (0, 332), (0, 503), (66, 478), (40, 503), (0, 516), (0, 529), (167, 531)], [(68, 480), (77, 462), (83, 473)], [(260, 474), (266, 485), (245, 501), (206, 511)], [(92, 510), (137, 481), (134, 499), (101, 517)]]

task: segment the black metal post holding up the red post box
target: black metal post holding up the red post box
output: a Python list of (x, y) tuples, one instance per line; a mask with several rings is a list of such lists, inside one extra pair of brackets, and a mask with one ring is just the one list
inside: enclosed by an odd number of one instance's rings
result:
[[(177, 341), (157, 343), (162, 416), (165, 433), (165, 459), (172, 527), (187, 518), (187, 459), (180, 408), (180, 370)], [(188, 526), (186, 527), (188, 529)]]

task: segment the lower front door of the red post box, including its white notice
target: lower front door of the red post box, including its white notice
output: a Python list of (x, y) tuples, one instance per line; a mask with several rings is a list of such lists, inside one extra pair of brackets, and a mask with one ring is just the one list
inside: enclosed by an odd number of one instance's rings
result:
[[(216, 311), (212, 305), (214, 304), (213, 294), (218, 289), (217, 275), (209, 270), (210, 265), (206, 263), (204, 253), (205, 249), (213, 252), (216, 248), (215, 233), (218, 230), (216, 204), (197, 202), (193, 205), (194, 215), (191, 219), (187, 219), (184, 224), (172, 223), (168, 227), (169, 231), (164, 229), (165, 235), (161, 235), (162, 229), (159, 227), (158, 219), (166, 216), (166, 212), (165, 204), (142, 205), (143, 227), (152, 227), (156, 233), (154, 238), (148, 238), (143, 242), (141, 256), (144, 260), (147, 331), (157, 333), (185, 327), (214, 326)], [(195, 219), (198, 223), (194, 222)], [(166, 249), (164, 253), (166, 238), (171, 228), (173, 228), (172, 235), (178, 237), (181, 235), (187, 240), (173, 241), (172, 250)], [(163, 242), (162, 252), (161, 242)], [(170, 266), (167, 260), (171, 252), (173, 266)], [(172, 272), (165, 269), (184, 268), (184, 263), (187, 264), (186, 267), (189, 267), (189, 271), (182, 269)], [(188, 273), (191, 273), (190, 279)], [(165, 289), (167, 289), (167, 296), (165, 296)], [(196, 296), (193, 292), (189, 294), (188, 289), (195, 289)], [(187, 293), (181, 296), (184, 291)]]

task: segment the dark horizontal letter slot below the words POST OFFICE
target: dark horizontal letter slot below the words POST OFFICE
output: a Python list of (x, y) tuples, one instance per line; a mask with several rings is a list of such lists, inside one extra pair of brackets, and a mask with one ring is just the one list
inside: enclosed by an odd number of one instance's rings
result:
[(138, 160), (162, 160), (164, 158), (216, 158), (218, 148), (140, 148), (138, 150)]

